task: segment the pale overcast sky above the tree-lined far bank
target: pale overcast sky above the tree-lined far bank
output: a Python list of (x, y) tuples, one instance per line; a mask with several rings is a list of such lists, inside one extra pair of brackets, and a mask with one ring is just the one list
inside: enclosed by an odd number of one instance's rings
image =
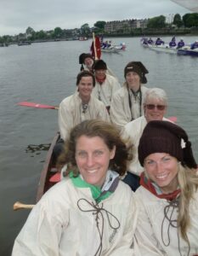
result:
[(98, 20), (152, 18), (184, 15), (184, 9), (170, 0), (0, 0), (0, 36), (35, 31), (79, 28)]

